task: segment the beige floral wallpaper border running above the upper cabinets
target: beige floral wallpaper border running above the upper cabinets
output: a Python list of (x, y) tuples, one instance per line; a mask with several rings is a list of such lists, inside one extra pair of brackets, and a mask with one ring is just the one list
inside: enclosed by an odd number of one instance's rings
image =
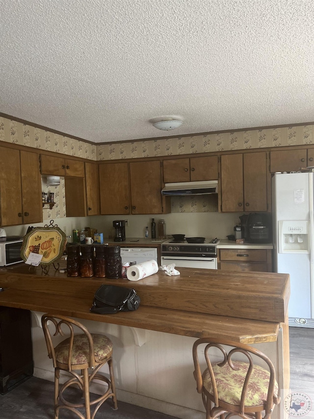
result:
[(97, 145), (0, 116), (0, 141), (104, 161), (314, 144), (314, 125)]

